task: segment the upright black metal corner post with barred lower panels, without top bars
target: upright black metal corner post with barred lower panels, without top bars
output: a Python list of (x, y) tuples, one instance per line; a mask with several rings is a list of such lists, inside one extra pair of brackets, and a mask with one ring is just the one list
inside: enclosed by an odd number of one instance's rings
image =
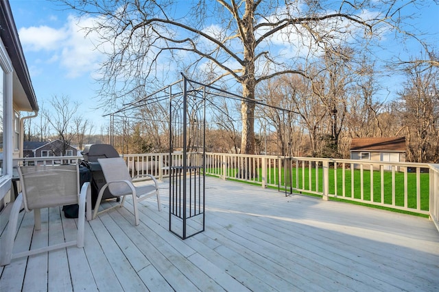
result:
[(181, 239), (204, 231), (206, 98), (187, 86), (183, 77), (182, 98), (169, 92), (169, 230)]

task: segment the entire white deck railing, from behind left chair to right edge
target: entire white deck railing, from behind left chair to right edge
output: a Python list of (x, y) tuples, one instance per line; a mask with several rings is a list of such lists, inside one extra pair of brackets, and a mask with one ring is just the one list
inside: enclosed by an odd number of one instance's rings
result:
[[(153, 174), (169, 176), (169, 165), (181, 166), (182, 152), (123, 155), (132, 177)], [(172, 163), (169, 163), (172, 159)], [(193, 152), (187, 165), (202, 165), (202, 155)], [(77, 163), (78, 157), (14, 159), (29, 163)], [(396, 163), (314, 157), (276, 157), (206, 153), (206, 174), (276, 187), (285, 194), (314, 194), (323, 200), (337, 198), (379, 207), (429, 215), (439, 230), (439, 165)]]

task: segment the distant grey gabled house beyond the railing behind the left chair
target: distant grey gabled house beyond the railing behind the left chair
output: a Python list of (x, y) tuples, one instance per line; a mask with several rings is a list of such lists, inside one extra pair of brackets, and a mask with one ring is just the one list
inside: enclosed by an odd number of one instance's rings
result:
[(63, 149), (61, 140), (52, 142), (31, 142), (23, 143), (23, 157), (51, 157), (51, 156), (77, 156), (78, 149), (68, 145), (62, 154)]

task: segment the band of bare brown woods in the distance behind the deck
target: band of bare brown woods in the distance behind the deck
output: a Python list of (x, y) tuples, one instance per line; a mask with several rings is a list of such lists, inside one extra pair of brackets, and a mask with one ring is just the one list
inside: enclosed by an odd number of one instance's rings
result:
[[(438, 68), (407, 68), (398, 98), (377, 101), (374, 72), (362, 75), (320, 70), (312, 81), (283, 75), (261, 83), (257, 100), (285, 109), (256, 105), (254, 144), (257, 154), (349, 158), (353, 137), (404, 136), (407, 160), (439, 161)], [(60, 139), (82, 149), (109, 143), (109, 124), (93, 129), (66, 96), (54, 96), (53, 110), (27, 120), (25, 140)], [(206, 124), (207, 152), (240, 153), (239, 101), (219, 99)], [(169, 151), (169, 124), (164, 103), (139, 107), (134, 117), (115, 118), (113, 142), (120, 153)], [(99, 131), (99, 134), (95, 132)]]

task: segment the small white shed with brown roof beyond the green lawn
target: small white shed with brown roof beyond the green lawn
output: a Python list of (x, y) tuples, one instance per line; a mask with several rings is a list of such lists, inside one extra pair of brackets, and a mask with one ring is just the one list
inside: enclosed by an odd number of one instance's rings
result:
[[(405, 149), (405, 137), (353, 138), (351, 159), (405, 162)], [(374, 166), (374, 169), (379, 169), (379, 166)], [(390, 170), (390, 165), (385, 165), (384, 169)]]

